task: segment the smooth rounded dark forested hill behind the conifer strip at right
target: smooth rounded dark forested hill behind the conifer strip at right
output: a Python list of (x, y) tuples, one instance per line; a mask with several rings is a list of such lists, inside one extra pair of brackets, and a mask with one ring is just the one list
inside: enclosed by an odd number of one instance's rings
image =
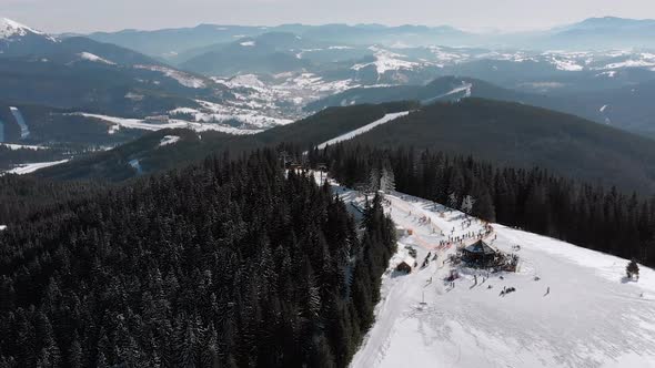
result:
[(643, 195), (655, 193), (655, 142), (550, 110), (466, 99), (437, 103), (354, 139), (490, 160)]

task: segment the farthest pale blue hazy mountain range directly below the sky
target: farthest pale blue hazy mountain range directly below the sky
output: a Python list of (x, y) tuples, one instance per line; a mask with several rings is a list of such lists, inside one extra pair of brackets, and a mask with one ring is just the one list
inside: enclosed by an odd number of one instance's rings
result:
[(590, 18), (578, 23), (556, 27), (545, 31), (518, 33), (473, 33), (453, 27), (382, 24), (283, 24), (278, 27), (243, 27), (201, 24), (195, 28), (157, 31), (124, 30), (99, 32), (89, 37), (103, 42), (124, 45), (143, 53), (174, 58), (178, 54), (236, 39), (258, 37), (269, 32), (288, 32), (323, 42), (345, 44), (380, 43), (387, 47), (450, 45), (450, 47), (503, 47), (535, 50), (607, 50), (653, 48), (654, 20), (633, 20), (615, 17)]

